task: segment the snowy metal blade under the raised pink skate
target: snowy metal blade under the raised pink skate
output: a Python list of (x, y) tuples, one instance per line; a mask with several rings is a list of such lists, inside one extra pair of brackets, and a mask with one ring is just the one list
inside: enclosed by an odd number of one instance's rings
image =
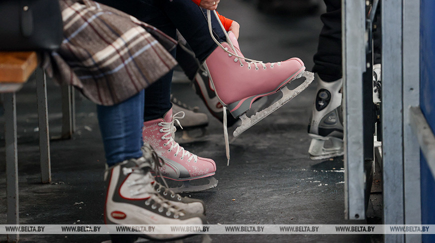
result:
[(241, 125), (234, 130), (234, 132), (232, 133), (233, 136), (236, 137), (240, 135), (243, 131), (247, 130), (249, 127), (253, 126), (258, 121), (264, 119), (267, 115), (277, 110), (286, 102), (294, 98), (297, 94), (302, 92), (305, 88), (308, 87), (308, 85), (312, 82), (312, 80), (314, 80), (314, 73), (309, 71), (303, 71), (302, 73), (297, 75), (294, 79), (302, 76), (305, 77), (304, 82), (302, 82), (300, 85), (298, 85), (296, 88), (292, 90), (288, 89), (287, 86), (281, 88), (279, 91), (282, 92), (282, 97), (278, 101), (271, 104), (269, 107), (256, 112), (254, 115), (250, 117), (247, 117), (246, 114), (242, 114), (240, 116)]

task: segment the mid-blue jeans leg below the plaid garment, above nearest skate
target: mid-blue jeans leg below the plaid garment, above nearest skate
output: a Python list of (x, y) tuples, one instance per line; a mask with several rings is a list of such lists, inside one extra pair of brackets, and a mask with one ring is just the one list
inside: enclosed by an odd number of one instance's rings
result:
[(109, 166), (142, 156), (143, 95), (142, 90), (119, 104), (97, 105), (99, 129)]

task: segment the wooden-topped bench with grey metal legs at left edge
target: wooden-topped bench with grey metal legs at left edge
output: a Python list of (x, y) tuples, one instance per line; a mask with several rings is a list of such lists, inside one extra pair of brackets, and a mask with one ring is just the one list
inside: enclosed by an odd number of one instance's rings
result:
[[(0, 92), (4, 97), (4, 140), (6, 153), (7, 224), (18, 224), (18, 167), (16, 141), (15, 92), (36, 70), (36, 94), (39, 126), (41, 182), (51, 181), (50, 146), (45, 73), (38, 66), (36, 52), (0, 52)], [(8, 241), (17, 241), (17, 234), (7, 235)]]

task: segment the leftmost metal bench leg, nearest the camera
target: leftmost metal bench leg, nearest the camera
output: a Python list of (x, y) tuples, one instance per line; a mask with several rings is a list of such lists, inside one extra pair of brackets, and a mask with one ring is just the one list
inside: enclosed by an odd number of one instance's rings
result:
[[(18, 159), (16, 152), (15, 93), (4, 93), (4, 117), (7, 224), (18, 224)], [(17, 242), (18, 238), (18, 234), (7, 235), (7, 241), (9, 242)]]

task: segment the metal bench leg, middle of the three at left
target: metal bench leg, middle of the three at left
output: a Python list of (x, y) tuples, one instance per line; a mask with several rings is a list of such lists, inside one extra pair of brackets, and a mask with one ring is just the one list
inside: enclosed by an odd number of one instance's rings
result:
[(36, 94), (39, 125), (39, 153), (41, 163), (41, 182), (51, 182), (50, 140), (48, 131), (47, 88), (45, 72), (36, 69)]

